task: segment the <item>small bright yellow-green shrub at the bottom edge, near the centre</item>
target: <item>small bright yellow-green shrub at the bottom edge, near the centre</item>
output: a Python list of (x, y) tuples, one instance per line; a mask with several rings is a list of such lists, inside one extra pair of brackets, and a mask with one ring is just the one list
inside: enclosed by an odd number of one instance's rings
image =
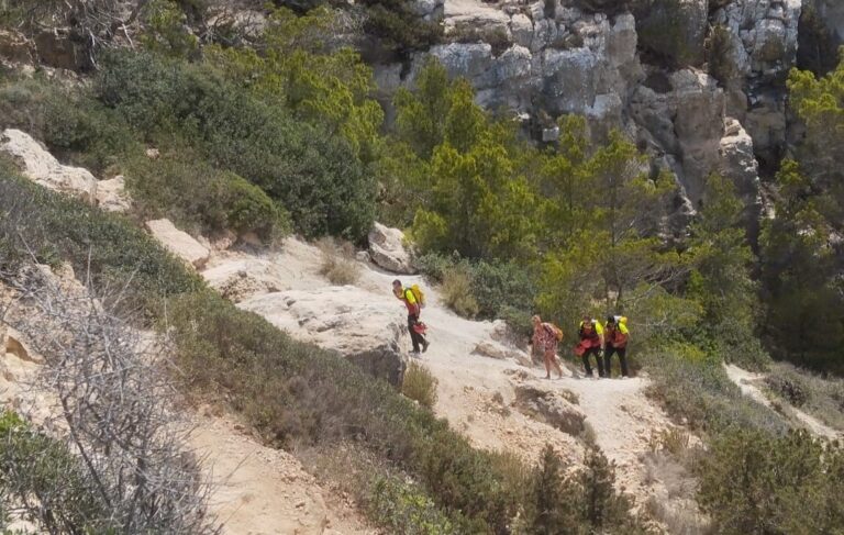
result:
[(398, 478), (379, 478), (373, 483), (368, 510), (370, 517), (378, 525), (392, 533), (459, 533), (421, 489)]

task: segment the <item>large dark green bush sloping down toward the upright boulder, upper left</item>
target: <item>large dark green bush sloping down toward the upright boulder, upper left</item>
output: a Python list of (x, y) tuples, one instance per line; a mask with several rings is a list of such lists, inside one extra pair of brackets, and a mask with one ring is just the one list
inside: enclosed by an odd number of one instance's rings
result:
[(145, 136), (176, 133), (212, 164), (260, 187), (306, 236), (359, 239), (369, 231), (375, 182), (348, 144), (321, 127), (204, 67), (145, 54), (109, 55), (97, 88)]

